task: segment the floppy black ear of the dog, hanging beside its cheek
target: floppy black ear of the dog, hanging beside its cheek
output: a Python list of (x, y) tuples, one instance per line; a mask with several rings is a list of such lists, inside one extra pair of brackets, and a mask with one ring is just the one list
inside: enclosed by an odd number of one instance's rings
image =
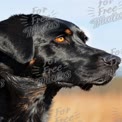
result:
[(24, 28), (17, 15), (0, 22), (0, 51), (23, 64), (34, 57), (33, 39), (23, 33)]

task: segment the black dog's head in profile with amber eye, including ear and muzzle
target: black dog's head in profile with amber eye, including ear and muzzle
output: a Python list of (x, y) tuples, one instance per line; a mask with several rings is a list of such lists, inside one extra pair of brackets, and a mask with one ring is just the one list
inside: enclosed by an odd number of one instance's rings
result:
[(88, 46), (85, 33), (68, 21), (19, 15), (1, 22), (0, 27), (0, 50), (29, 66), (18, 75), (31, 70), (28, 77), (47, 85), (89, 90), (111, 81), (121, 62), (115, 55)]

